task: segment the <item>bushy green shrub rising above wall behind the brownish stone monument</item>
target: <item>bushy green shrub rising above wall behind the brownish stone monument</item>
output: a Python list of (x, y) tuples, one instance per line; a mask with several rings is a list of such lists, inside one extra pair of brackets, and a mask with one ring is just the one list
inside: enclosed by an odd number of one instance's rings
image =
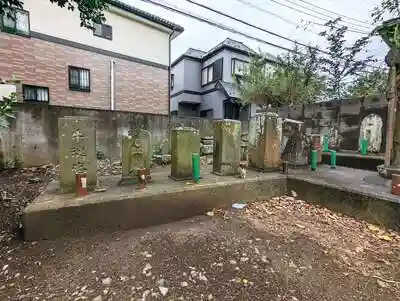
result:
[(263, 108), (315, 102), (325, 91), (316, 52), (309, 48), (301, 53), (295, 47), (273, 65), (262, 53), (253, 56), (243, 77), (236, 80), (242, 101)]

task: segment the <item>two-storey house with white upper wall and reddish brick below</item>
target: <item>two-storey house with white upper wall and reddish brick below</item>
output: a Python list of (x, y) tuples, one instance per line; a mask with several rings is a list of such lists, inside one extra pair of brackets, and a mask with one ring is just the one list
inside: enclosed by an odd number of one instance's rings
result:
[(107, 2), (94, 30), (49, 0), (25, 0), (15, 20), (0, 16), (0, 78), (22, 80), (27, 102), (168, 114), (170, 43), (183, 28)]

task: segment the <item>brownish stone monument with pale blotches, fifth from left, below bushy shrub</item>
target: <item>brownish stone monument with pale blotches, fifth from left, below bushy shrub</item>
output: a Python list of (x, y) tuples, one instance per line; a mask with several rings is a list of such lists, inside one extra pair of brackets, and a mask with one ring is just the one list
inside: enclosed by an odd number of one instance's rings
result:
[(282, 119), (276, 113), (260, 113), (249, 124), (249, 168), (278, 170), (281, 165)]

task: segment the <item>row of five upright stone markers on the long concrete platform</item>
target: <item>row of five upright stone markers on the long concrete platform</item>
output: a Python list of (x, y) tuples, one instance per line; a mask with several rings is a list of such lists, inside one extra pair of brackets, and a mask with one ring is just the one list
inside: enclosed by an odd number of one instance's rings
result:
[[(59, 119), (60, 188), (62, 192), (85, 195), (97, 184), (96, 126), (88, 117)], [(267, 171), (280, 168), (280, 118), (261, 114), (251, 121), (248, 166)], [(241, 166), (241, 123), (214, 122), (213, 173), (237, 175)], [(187, 127), (171, 131), (171, 175), (174, 180), (192, 179), (193, 154), (200, 152), (200, 133)], [(136, 129), (122, 137), (122, 178), (120, 184), (147, 184), (151, 180), (151, 133)], [(247, 161), (247, 160), (246, 160)], [(247, 164), (247, 162), (246, 162)]]

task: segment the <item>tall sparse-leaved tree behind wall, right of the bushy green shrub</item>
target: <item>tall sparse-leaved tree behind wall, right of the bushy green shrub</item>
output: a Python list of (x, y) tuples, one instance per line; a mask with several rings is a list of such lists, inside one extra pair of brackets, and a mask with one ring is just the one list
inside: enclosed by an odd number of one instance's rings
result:
[(325, 37), (328, 45), (328, 55), (321, 57), (321, 71), (327, 76), (328, 96), (340, 99), (346, 94), (345, 81), (352, 76), (358, 76), (366, 70), (371, 56), (359, 59), (358, 55), (369, 42), (368, 37), (362, 37), (352, 45), (346, 44), (347, 26), (340, 26), (340, 18), (328, 21), (326, 30), (320, 35)]

